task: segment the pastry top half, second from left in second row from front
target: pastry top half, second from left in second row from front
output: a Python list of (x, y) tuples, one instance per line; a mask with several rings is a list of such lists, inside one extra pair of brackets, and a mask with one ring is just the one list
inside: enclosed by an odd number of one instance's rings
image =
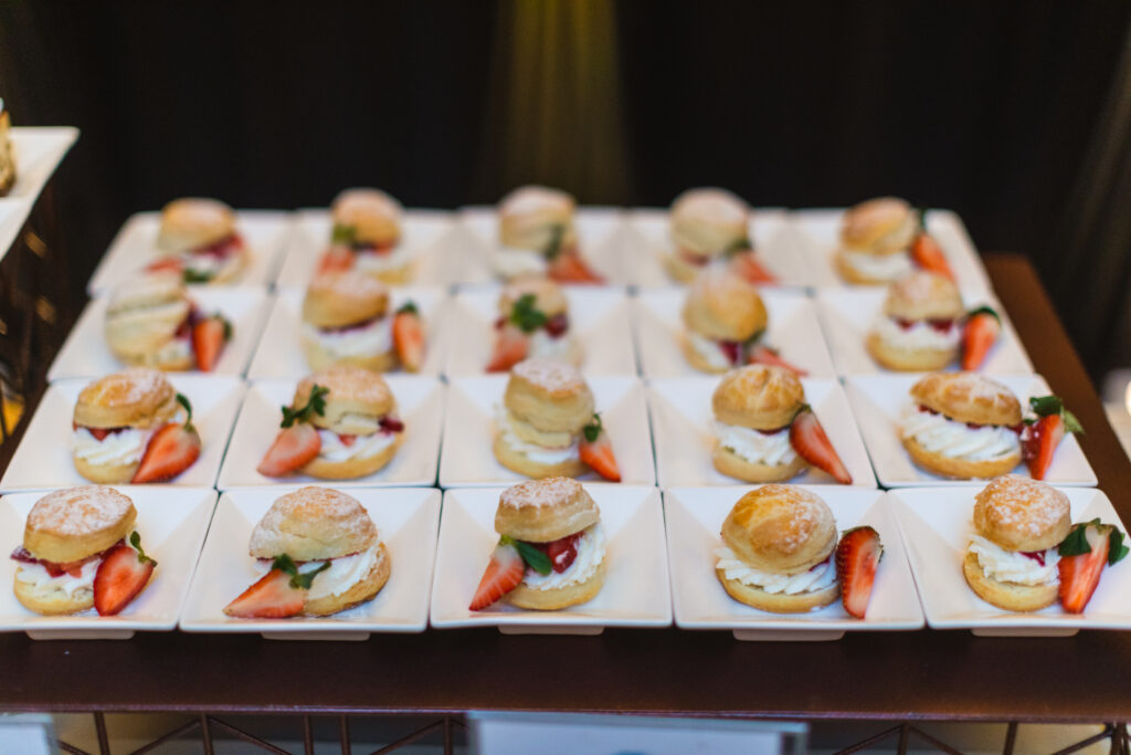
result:
[(305, 406), (316, 385), (329, 388), (329, 393), (323, 398), (323, 413), (311, 413), (314, 427), (342, 435), (370, 435), (377, 431), (380, 418), (397, 409), (385, 378), (353, 364), (335, 364), (304, 377), (295, 386), (291, 407)]

